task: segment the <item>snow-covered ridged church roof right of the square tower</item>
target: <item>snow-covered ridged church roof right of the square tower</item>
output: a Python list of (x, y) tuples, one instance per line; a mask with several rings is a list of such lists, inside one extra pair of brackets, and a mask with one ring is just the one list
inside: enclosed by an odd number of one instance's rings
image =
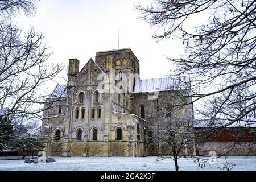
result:
[[(186, 81), (189, 83), (189, 80), (186, 79)], [(134, 86), (134, 93), (180, 90), (181, 88), (188, 88), (188, 85), (185, 85), (184, 83), (181, 83), (180, 85), (181, 86), (175, 86), (174, 79), (170, 77), (137, 80)]]

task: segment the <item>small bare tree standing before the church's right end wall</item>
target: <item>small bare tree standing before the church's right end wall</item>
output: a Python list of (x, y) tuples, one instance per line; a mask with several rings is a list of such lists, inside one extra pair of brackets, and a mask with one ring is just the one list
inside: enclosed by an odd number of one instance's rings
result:
[(192, 105), (174, 106), (177, 102), (189, 102), (188, 97), (180, 96), (187, 92), (160, 92), (158, 98), (151, 102), (147, 114), (154, 121), (150, 126), (152, 133), (148, 137), (152, 141), (150, 143), (157, 144), (158, 160), (171, 158), (176, 171), (179, 171), (179, 158), (192, 158), (195, 155)]

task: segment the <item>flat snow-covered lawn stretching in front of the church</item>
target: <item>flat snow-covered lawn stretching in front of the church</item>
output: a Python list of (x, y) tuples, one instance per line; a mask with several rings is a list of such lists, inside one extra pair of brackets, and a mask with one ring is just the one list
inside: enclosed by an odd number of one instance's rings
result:
[[(172, 159), (164, 159), (156, 162), (157, 157), (111, 157), (111, 158), (61, 158), (55, 157), (55, 163), (47, 164), (27, 164), (22, 159), (14, 159), (1, 157), (0, 170), (24, 170), (24, 171), (55, 171), (55, 170), (174, 170), (174, 162)], [(236, 164), (233, 170), (256, 170), (256, 157), (249, 156), (230, 156), (228, 162)], [(218, 158), (216, 164), (212, 164), (212, 168), (207, 167), (204, 170), (220, 170), (217, 164), (221, 167), (226, 163), (225, 158)], [(179, 159), (180, 170), (203, 170), (191, 159)]]

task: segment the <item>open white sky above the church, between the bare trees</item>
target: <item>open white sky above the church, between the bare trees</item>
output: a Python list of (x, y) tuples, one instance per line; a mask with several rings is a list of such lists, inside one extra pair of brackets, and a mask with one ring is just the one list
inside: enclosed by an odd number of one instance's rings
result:
[(129, 47), (138, 57), (141, 78), (163, 77), (172, 68), (165, 56), (179, 57), (182, 43), (172, 39), (156, 43), (151, 38), (153, 30), (138, 18), (139, 13), (133, 8), (137, 2), (41, 0), (37, 3), (37, 14), (21, 15), (17, 21), (24, 31), (32, 21), (35, 29), (46, 35), (44, 42), (53, 51), (49, 61), (68, 65), (68, 59), (77, 58), (80, 69), (90, 57), (95, 59), (97, 51), (118, 48), (119, 29), (120, 48)]

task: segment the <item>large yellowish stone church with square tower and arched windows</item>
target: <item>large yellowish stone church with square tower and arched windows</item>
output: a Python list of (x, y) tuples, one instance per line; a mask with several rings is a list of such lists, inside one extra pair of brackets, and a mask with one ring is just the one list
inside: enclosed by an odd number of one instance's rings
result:
[[(57, 84), (44, 104), (42, 135), (50, 138), (50, 155), (164, 154), (161, 144), (150, 139), (156, 119), (171, 114), (193, 118), (192, 105), (170, 114), (172, 97), (166, 96), (180, 90), (170, 78), (141, 80), (139, 60), (130, 48), (96, 52), (95, 61), (80, 66), (69, 59), (67, 85)], [(154, 115), (156, 105), (163, 106), (160, 117)]]

